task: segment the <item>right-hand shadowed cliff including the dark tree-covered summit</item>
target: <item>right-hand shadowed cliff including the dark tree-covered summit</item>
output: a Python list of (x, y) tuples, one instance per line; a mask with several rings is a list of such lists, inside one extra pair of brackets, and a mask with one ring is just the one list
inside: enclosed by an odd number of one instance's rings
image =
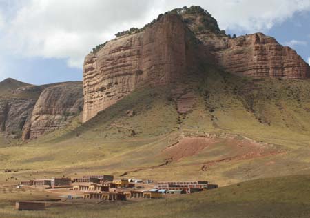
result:
[(310, 66), (295, 50), (281, 46), (273, 37), (256, 33), (232, 39), (220, 31), (216, 20), (203, 10), (180, 14), (203, 43), (205, 61), (215, 63), (218, 68), (251, 77), (310, 77)]

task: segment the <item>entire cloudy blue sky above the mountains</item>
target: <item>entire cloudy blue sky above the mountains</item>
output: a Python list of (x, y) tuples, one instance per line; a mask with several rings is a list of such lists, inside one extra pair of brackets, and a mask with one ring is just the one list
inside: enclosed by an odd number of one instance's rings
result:
[(229, 34), (263, 32), (310, 63), (310, 0), (0, 0), (0, 81), (82, 80), (94, 46), (192, 5)]

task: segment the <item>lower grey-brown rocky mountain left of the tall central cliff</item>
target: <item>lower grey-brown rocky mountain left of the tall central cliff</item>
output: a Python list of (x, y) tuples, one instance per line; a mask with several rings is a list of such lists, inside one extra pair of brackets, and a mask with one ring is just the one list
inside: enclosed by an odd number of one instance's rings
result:
[(33, 86), (6, 79), (0, 83), (0, 132), (7, 137), (38, 137), (65, 126), (81, 110), (81, 82)]

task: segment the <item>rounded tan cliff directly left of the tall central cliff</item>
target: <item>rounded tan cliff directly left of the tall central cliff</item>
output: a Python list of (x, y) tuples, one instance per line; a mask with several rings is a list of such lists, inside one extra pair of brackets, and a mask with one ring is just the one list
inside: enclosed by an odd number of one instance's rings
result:
[(63, 83), (45, 88), (32, 111), (23, 139), (33, 139), (66, 126), (72, 117), (83, 110), (81, 83)]

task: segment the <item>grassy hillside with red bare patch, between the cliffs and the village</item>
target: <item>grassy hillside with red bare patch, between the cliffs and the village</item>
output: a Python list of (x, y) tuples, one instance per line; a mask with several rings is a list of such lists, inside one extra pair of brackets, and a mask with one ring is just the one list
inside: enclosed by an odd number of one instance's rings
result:
[[(185, 87), (196, 95), (186, 115), (175, 97), (184, 84), (141, 88), (83, 125), (76, 119), (22, 146), (1, 146), (0, 170), (18, 170), (18, 179), (108, 172), (221, 186), (310, 173), (310, 80), (237, 77), (211, 67), (196, 78)], [(12, 181), (1, 172), (0, 179)]]

